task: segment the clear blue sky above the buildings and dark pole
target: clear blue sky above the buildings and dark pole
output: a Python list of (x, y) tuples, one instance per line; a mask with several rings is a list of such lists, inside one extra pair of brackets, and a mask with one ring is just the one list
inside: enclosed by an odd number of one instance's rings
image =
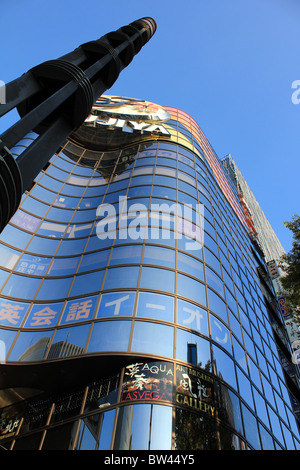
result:
[(289, 251), (283, 223), (300, 213), (299, 0), (1, 0), (0, 80), (144, 16), (157, 32), (107, 93), (190, 114), (219, 157), (232, 155)]

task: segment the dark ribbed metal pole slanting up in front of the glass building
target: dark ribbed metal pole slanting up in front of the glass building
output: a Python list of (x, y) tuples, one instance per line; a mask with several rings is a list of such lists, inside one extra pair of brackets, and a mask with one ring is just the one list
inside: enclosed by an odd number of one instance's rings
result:
[[(155, 31), (152, 18), (141, 18), (6, 85), (0, 117), (16, 108), (21, 119), (0, 136), (0, 232), (23, 192)], [(39, 137), (14, 159), (11, 149), (30, 131)]]

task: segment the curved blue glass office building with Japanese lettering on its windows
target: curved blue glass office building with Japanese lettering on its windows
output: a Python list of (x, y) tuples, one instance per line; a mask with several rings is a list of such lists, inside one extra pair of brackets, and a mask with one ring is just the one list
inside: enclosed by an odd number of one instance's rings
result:
[(186, 113), (99, 99), (0, 253), (3, 449), (299, 449), (267, 266)]

